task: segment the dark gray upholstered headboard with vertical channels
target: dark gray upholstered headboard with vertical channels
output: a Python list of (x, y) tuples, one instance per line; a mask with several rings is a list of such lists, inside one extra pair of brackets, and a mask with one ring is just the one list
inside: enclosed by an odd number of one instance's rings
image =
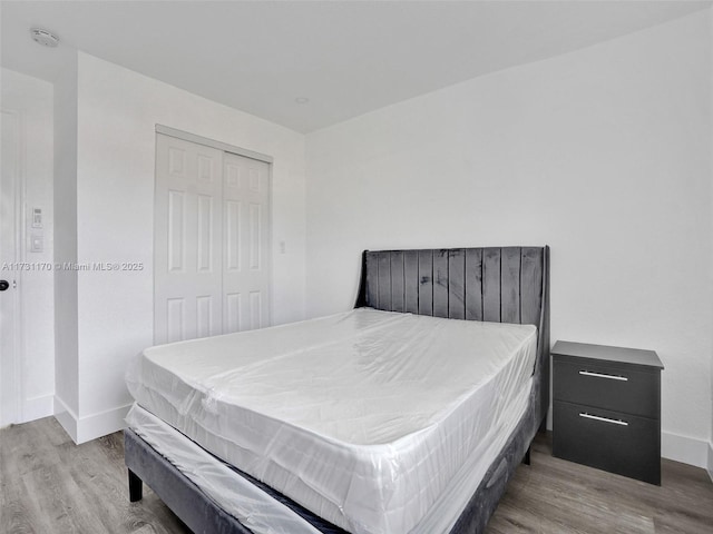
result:
[(540, 422), (549, 407), (549, 247), (365, 250), (356, 307), (538, 328)]

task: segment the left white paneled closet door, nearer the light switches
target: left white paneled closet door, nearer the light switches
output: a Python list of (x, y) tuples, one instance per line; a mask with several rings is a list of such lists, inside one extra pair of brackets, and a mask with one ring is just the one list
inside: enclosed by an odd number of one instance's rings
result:
[(156, 142), (154, 342), (221, 334), (223, 151)]

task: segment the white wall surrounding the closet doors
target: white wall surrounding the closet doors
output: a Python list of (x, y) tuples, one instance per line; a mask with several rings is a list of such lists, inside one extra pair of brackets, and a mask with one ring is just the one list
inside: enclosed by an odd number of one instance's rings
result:
[(143, 271), (78, 274), (78, 442), (124, 425), (128, 362), (153, 343), (155, 127), (274, 157), (273, 323), (304, 316), (304, 136), (91, 56), (78, 56), (77, 259)]

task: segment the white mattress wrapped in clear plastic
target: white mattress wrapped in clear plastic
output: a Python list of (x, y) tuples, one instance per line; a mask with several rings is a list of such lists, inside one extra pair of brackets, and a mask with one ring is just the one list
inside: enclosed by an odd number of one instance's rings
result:
[(205, 449), (350, 532), (441, 532), (445, 495), (466, 467), (485, 473), (525, 411), (536, 338), (362, 308), (153, 347), (127, 383)]

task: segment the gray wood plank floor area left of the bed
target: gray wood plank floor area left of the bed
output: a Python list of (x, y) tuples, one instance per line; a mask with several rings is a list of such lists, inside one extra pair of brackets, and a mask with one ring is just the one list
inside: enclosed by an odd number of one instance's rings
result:
[(52, 417), (0, 431), (0, 533), (189, 532), (146, 487), (129, 503), (120, 432), (77, 446)]

